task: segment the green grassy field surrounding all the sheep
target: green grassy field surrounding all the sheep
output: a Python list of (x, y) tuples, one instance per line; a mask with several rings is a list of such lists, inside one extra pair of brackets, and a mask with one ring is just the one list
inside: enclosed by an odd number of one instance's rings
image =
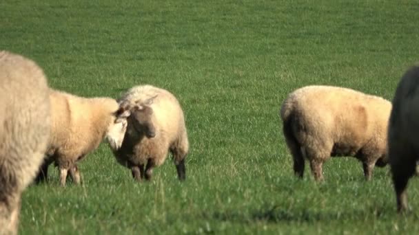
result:
[(336, 85), (391, 99), (418, 60), (416, 1), (0, 1), (0, 49), (43, 67), (50, 86), (117, 98), (134, 85), (172, 91), (186, 115), (187, 180), (172, 161), (136, 183), (100, 148), (84, 185), (23, 194), (20, 234), (393, 234), (389, 168), (366, 182), (354, 158), (325, 164), (325, 182), (292, 172), (278, 117), (287, 93)]

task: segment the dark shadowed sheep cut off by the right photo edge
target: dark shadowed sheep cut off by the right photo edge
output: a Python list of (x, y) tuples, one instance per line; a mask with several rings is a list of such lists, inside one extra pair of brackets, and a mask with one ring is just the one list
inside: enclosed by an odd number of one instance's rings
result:
[(419, 66), (400, 80), (389, 121), (389, 163), (396, 191), (397, 210), (407, 210), (407, 182), (419, 160)]

